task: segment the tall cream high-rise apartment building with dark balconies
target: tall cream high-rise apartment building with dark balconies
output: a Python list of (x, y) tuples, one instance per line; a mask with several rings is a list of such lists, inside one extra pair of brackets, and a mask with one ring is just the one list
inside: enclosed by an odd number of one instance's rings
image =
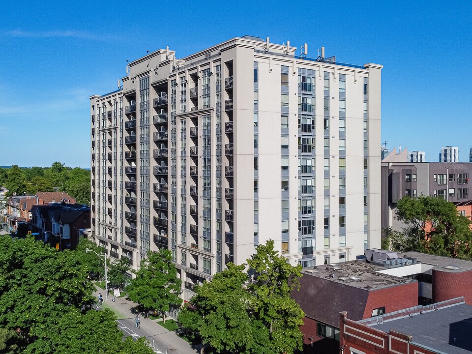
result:
[(187, 299), (268, 239), (303, 267), (380, 248), (382, 65), (295, 49), (161, 49), (90, 97), (92, 234), (111, 257), (169, 248)]

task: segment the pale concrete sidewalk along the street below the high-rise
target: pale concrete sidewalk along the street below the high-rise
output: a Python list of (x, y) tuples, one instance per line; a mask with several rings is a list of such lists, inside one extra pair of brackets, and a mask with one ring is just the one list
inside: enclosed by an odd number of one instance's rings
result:
[[(98, 288), (97, 286), (95, 286), (95, 288), (98, 289), (98, 291), (93, 293), (94, 296), (97, 297), (99, 292), (101, 292), (102, 294), (105, 293), (105, 291), (101, 288)], [(103, 297), (105, 298), (106, 296)], [(113, 294), (110, 294), (108, 298), (109, 299), (106, 300), (104, 303), (110, 307), (113, 307), (124, 318), (133, 320), (136, 317), (136, 312), (134, 312), (134, 307), (136, 306), (136, 303), (127, 300), (125, 298), (125, 295), (123, 295), (122, 297), (117, 297), (115, 302), (111, 300), (113, 298)], [(149, 332), (152, 333), (151, 336), (147, 336), (149, 342), (152, 344), (153, 339), (155, 341), (161, 342), (161, 347), (165, 346), (169, 349), (168, 354), (200, 353), (200, 348), (192, 348), (190, 343), (177, 336), (174, 331), (169, 331), (160, 324), (158, 324), (157, 320), (144, 318), (144, 316), (142, 315), (140, 315), (140, 320), (141, 327), (146, 328)]]

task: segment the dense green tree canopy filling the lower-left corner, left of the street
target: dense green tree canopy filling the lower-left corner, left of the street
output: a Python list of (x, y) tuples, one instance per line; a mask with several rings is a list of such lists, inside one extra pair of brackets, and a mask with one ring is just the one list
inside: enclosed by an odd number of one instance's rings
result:
[(111, 311), (91, 309), (88, 268), (76, 252), (0, 236), (0, 352), (153, 353), (144, 338), (123, 341)]

